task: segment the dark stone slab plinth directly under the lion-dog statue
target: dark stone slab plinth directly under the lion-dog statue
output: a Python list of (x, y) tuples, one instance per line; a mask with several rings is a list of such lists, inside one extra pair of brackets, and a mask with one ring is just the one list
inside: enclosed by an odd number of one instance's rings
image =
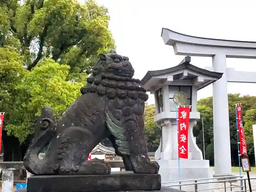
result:
[(28, 192), (160, 190), (161, 176), (126, 172), (111, 175), (32, 176), (28, 178), (27, 187)]

